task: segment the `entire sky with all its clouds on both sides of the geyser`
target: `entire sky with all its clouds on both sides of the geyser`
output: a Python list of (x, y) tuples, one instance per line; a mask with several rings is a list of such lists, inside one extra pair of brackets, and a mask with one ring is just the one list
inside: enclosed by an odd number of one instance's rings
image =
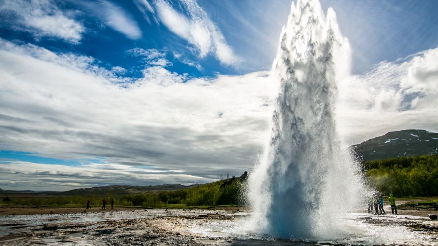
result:
[[(250, 170), (291, 3), (0, 0), (0, 188), (188, 185)], [(346, 143), (437, 131), (438, 2), (320, 4), (351, 45), (337, 112)]]

